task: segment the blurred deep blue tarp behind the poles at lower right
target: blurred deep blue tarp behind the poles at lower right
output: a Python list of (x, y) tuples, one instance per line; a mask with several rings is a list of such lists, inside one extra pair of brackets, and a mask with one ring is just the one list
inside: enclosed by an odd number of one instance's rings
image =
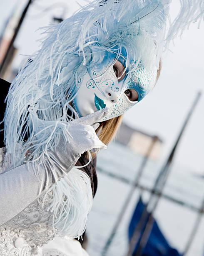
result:
[[(140, 198), (134, 210), (134, 214), (132, 216), (132, 220), (129, 225), (129, 230), (128, 230), (129, 241), (132, 238), (132, 235), (139, 222), (139, 219), (142, 215), (143, 210), (145, 211), (145, 205)], [(146, 223), (147, 223), (147, 219), (145, 220), (145, 224)], [(144, 227), (142, 228), (142, 230), (140, 230), (140, 234), (142, 234), (143, 231), (144, 231)], [(132, 256), (136, 255), (135, 253), (137, 249), (138, 249), (138, 244), (135, 246), (134, 253), (132, 254)], [(156, 220), (154, 220), (152, 231), (150, 233), (147, 244), (144, 247), (141, 255), (142, 256), (182, 256), (182, 254), (180, 254), (176, 249), (169, 246), (169, 243), (167, 242), (166, 238), (164, 237), (161, 230), (159, 229), (159, 226)]]

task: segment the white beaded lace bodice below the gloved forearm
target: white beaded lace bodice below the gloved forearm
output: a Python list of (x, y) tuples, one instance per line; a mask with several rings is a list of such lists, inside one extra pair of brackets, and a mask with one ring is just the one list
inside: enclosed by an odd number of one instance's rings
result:
[(54, 238), (52, 213), (46, 208), (52, 191), (39, 197), (25, 210), (0, 227), (1, 256), (41, 255), (41, 246)]

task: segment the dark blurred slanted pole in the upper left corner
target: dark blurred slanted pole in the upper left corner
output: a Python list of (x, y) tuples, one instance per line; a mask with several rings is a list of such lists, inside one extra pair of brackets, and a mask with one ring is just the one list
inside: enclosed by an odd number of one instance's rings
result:
[(32, 1), (33, 0), (29, 0), (28, 1), (28, 3), (27, 3), (27, 5), (26, 5), (26, 7), (25, 7), (25, 9), (24, 9), (24, 11), (23, 11), (23, 13), (21, 15), (21, 18), (20, 18), (20, 20), (19, 20), (19, 22), (17, 24), (17, 27), (15, 28), (15, 32), (13, 34), (13, 37), (12, 37), (12, 39), (10, 41), (10, 44), (9, 44), (9, 46), (7, 48), (6, 54), (5, 54), (5, 56), (4, 56), (3, 60), (2, 60), (1, 66), (0, 66), (0, 77), (3, 77), (4, 73), (6, 72), (7, 64), (8, 64), (8, 58), (9, 58), (9, 56), (11, 54), (10, 51), (12, 51), (13, 43), (14, 43), (15, 38), (16, 38), (16, 36), (17, 36), (17, 34), (18, 34), (19, 30), (20, 30), (22, 22), (23, 22), (23, 20), (25, 18), (27, 10), (28, 10), (30, 4), (32, 3)]

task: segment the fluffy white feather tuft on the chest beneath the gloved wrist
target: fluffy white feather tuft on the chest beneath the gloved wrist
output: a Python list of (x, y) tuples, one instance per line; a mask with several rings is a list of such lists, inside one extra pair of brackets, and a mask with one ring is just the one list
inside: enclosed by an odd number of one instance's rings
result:
[(90, 178), (85, 172), (72, 168), (51, 190), (53, 201), (47, 210), (53, 212), (53, 230), (57, 228), (61, 236), (80, 238), (92, 207)]

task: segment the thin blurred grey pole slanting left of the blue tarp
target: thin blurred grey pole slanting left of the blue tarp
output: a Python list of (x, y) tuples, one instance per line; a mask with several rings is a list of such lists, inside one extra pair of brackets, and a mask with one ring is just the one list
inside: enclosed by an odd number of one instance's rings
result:
[(111, 243), (112, 243), (112, 241), (113, 241), (113, 239), (114, 239), (114, 236), (115, 236), (115, 234), (116, 234), (116, 232), (117, 232), (117, 229), (118, 229), (118, 227), (119, 227), (119, 225), (120, 225), (120, 223), (121, 223), (121, 221), (122, 221), (122, 218), (124, 217), (124, 214), (125, 214), (125, 212), (126, 212), (126, 210), (127, 210), (127, 207), (128, 207), (128, 205), (129, 205), (129, 202), (130, 202), (130, 200), (132, 199), (132, 196), (133, 196), (133, 194), (134, 194), (134, 190), (135, 190), (135, 188), (137, 187), (137, 184), (138, 184), (138, 182), (139, 182), (139, 178), (140, 178), (141, 175), (142, 175), (142, 172), (143, 172), (143, 170), (144, 170), (144, 167), (145, 167), (146, 164), (147, 164), (147, 160), (149, 159), (149, 156), (150, 156), (150, 154), (151, 154), (151, 152), (152, 152), (152, 149), (154, 148), (154, 145), (155, 145), (155, 143), (157, 142), (157, 140), (158, 140), (158, 137), (157, 137), (157, 136), (154, 136), (153, 139), (152, 139), (152, 141), (151, 141), (151, 143), (150, 143), (150, 145), (149, 145), (149, 147), (148, 147), (148, 149), (147, 149), (147, 152), (146, 152), (146, 154), (145, 154), (145, 156), (144, 156), (144, 159), (143, 159), (143, 161), (142, 161), (142, 164), (141, 164), (141, 166), (139, 167), (139, 171), (137, 172), (137, 175), (136, 175), (136, 177), (135, 177), (135, 179), (134, 179), (134, 182), (132, 183), (132, 187), (131, 187), (131, 189), (130, 189), (130, 191), (129, 191), (129, 193), (128, 193), (128, 195), (127, 195), (125, 201), (124, 201), (124, 204), (123, 204), (123, 206), (122, 206), (122, 208), (121, 208), (121, 211), (119, 212), (118, 218), (117, 218), (117, 220), (116, 220), (116, 222), (115, 222), (115, 224), (114, 224), (114, 227), (113, 227), (113, 229), (112, 229), (112, 232), (111, 232), (109, 238), (107, 239), (107, 242), (106, 242), (106, 244), (105, 244), (105, 246), (104, 246), (104, 248), (103, 248), (102, 256), (106, 256), (106, 253), (107, 253), (107, 251), (108, 251), (108, 248), (109, 248), (109, 246), (111, 245)]

